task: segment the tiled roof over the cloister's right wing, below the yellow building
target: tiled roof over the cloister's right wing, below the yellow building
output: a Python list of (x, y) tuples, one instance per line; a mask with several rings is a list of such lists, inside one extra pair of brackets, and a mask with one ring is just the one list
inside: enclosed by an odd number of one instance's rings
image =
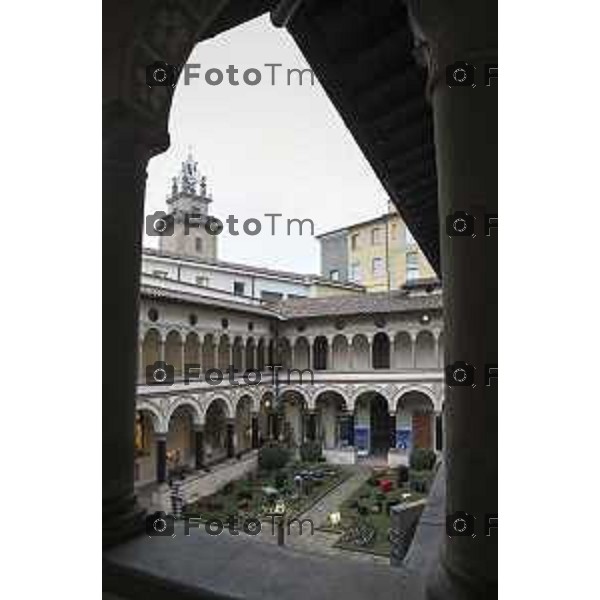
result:
[(278, 307), (285, 318), (354, 315), (361, 313), (392, 313), (442, 308), (439, 293), (410, 294), (396, 290), (391, 293), (327, 296), (324, 298), (293, 298), (282, 300)]

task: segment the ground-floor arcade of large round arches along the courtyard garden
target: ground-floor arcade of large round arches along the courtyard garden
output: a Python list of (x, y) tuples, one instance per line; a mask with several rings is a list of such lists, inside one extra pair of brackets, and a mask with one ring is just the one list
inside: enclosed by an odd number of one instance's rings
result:
[(135, 479), (164, 482), (171, 472), (204, 469), (278, 440), (296, 451), (312, 440), (331, 462), (379, 457), (406, 462), (413, 448), (441, 449), (441, 416), (424, 391), (390, 400), (373, 389), (346, 398), (325, 390), (308, 399), (290, 389), (279, 400), (270, 390), (237, 401), (215, 397), (203, 407), (190, 398), (163, 418), (150, 404), (138, 404), (135, 423)]

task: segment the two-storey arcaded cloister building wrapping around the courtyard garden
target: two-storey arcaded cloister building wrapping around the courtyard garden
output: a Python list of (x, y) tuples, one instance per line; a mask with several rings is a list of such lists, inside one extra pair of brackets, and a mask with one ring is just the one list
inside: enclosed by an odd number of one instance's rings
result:
[(439, 451), (443, 344), (439, 288), (265, 306), (144, 284), (136, 481), (269, 440), (344, 464)]

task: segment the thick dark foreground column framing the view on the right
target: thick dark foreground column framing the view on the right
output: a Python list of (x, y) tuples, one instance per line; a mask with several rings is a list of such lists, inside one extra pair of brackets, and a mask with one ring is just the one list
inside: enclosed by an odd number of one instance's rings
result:
[[(498, 540), (486, 536), (486, 514), (498, 510), (498, 394), (487, 386), (486, 364), (497, 364), (498, 213), (497, 80), (486, 85), (486, 65), (497, 64), (497, 2), (408, 2), (429, 68), (434, 118), (440, 247), (445, 318), (445, 364), (475, 367), (475, 387), (448, 386), (445, 400), (446, 512), (475, 517), (475, 537), (444, 537), (441, 564), (430, 579), (432, 598), (497, 596)], [(446, 67), (465, 61), (475, 86), (450, 87)], [(450, 71), (453, 72), (452, 69)], [(446, 217), (475, 217), (475, 237), (452, 237)]]

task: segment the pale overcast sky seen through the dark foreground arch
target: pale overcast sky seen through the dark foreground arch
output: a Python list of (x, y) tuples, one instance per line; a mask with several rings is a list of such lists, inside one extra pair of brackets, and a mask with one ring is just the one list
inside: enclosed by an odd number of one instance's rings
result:
[[(315, 78), (303, 85), (297, 75), (287, 85), (287, 69), (308, 63), (285, 30), (274, 28), (268, 16), (199, 44), (188, 63), (200, 63), (200, 79), (175, 90), (169, 131), (170, 149), (154, 158), (148, 170), (146, 214), (165, 210), (171, 177), (191, 147), (199, 170), (213, 194), (211, 213), (239, 219), (237, 237), (219, 236), (219, 258), (306, 273), (319, 272), (319, 246), (308, 226), (288, 236), (286, 219), (310, 218), (315, 234), (382, 213), (387, 195), (342, 119)], [(282, 63), (271, 84), (272, 69)], [(240, 82), (233, 86), (225, 69), (234, 65)], [(210, 68), (224, 72), (220, 85), (204, 75)], [(258, 85), (243, 81), (256, 68)], [(265, 213), (282, 213), (271, 235)], [(261, 220), (263, 229), (250, 237), (245, 219)], [(155, 246), (156, 238), (144, 243)]]

